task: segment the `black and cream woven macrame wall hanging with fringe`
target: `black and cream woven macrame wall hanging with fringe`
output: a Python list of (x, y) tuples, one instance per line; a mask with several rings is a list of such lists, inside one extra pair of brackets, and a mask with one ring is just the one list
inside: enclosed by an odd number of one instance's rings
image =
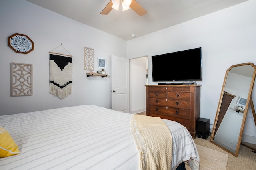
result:
[[(62, 44), (58, 47), (65, 49)], [(64, 99), (72, 93), (72, 55), (67, 50), (69, 55), (52, 51), (49, 52), (50, 94)]]

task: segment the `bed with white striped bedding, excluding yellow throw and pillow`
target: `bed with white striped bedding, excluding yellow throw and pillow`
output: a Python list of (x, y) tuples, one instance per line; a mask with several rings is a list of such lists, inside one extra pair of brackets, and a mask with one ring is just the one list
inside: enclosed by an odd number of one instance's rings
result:
[[(0, 169), (138, 170), (130, 119), (129, 113), (95, 105), (0, 116), (0, 126), (8, 130), (21, 152), (0, 158)], [(184, 161), (198, 163), (188, 130), (162, 120), (172, 135), (171, 169)]]

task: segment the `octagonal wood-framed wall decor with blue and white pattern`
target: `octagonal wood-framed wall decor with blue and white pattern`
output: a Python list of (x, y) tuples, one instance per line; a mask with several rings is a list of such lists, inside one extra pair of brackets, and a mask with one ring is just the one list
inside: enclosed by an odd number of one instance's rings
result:
[(19, 33), (8, 37), (8, 45), (16, 53), (27, 54), (34, 50), (34, 42), (27, 35)]

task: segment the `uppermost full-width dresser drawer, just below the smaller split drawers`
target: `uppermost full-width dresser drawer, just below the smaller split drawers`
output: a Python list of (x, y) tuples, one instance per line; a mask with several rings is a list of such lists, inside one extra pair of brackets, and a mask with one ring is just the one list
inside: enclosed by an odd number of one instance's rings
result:
[(149, 105), (159, 105), (166, 107), (175, 107), (182, 109), (190, 109), (190, 101), (189, 100), (176, 100), (176, 99), (162, 99), (150, 97), (148, 101)]

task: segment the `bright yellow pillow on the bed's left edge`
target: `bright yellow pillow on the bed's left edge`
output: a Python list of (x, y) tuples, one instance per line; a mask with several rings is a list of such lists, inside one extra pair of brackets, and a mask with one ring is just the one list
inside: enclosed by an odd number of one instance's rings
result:
[(18, 145), (3, 127), (0, 127), (0, 158), (19, 154)]

